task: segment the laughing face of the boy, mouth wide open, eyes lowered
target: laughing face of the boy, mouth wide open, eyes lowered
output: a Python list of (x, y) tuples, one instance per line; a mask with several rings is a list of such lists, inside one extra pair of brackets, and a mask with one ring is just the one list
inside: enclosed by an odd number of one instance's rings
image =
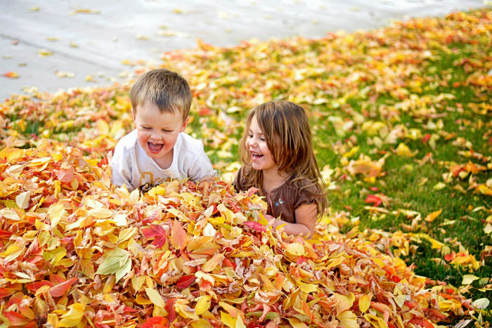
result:
[(148, 157), (167, 169), (173, 158), (172, 149), (180, 132), (186, 128), (181, 112), (161, 112), (154, 103), (138, 105), (133, 112), (138, 143)]

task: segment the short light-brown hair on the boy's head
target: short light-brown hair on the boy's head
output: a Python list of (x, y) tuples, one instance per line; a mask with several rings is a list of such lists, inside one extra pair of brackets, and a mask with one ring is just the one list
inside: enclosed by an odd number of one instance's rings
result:
[(134, 113), (138, 105), (153, 103), (161, 112), (181, 112), (184, 121), (190, 114), (191, 91), (181, 75), (161, 68), (138, 77), (131, 86), (130, 100)]

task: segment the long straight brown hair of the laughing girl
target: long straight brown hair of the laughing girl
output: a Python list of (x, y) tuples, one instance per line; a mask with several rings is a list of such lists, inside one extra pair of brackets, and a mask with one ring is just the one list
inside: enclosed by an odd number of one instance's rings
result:
[[(318, 215), (323, 215), (327, 206), (325, 184), (314, 156), (308, 117), (304, 108), (290, 101), (268, 101), (248, 111), (239, 147), (244, 164), (244, 185), (247, 188), (263, 186), (263, 172), (252, 169), (251, 156), (246, 146), (248, 130), (254, 117), (278, 171), (290, 176), (288, 181), (295, 188), (310, 192), (318, 204)], [(306, 181), (309, 182), (306, 184)]]

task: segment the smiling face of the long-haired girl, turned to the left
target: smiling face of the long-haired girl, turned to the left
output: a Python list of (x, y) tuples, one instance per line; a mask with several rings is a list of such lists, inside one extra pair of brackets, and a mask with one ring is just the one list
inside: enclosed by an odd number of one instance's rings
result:
[(250, 152), (252, 168), (255, 170), (276, 170), (277, 164), (273, 161), (273, 155), (266, 145), (266, 140), (259, 127), (257, 116), (254, 115), (246, 138), (246, 147)]

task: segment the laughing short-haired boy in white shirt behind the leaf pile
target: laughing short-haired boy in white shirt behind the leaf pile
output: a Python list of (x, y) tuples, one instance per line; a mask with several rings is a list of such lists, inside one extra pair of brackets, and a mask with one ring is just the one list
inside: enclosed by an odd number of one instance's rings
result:
[(191, 91), (186, 79), (169, 70), (151, 70), (130, 91), (136, 129), (118, 141), (112, 157), (112, 183), (147, 192), (171, 179), (200, 181), (214, 169), (203, 144), (183, 130)]

